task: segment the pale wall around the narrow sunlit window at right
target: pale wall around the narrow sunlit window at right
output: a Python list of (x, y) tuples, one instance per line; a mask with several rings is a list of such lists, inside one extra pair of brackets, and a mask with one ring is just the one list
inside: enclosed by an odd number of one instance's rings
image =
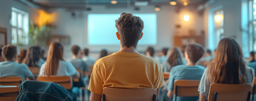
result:
[[(217, 47), (214, 45), (214, 16), (213, 13), (222, 9), (224, 14), (224, 37), (235, 37), (236, 40), (242, 45), (242, 32), (241, 28), (241, 0), (217, 0), (217, 2), (209, 5), (204, 10), (203, 24), (206, 34), (206, 47), (214, 50)], [(212, 36), (211, 36), (212, 35)], [(212, 39), (212, 40), (211, 40)], [(211, 44), (212, 43), (212, 44)]]

